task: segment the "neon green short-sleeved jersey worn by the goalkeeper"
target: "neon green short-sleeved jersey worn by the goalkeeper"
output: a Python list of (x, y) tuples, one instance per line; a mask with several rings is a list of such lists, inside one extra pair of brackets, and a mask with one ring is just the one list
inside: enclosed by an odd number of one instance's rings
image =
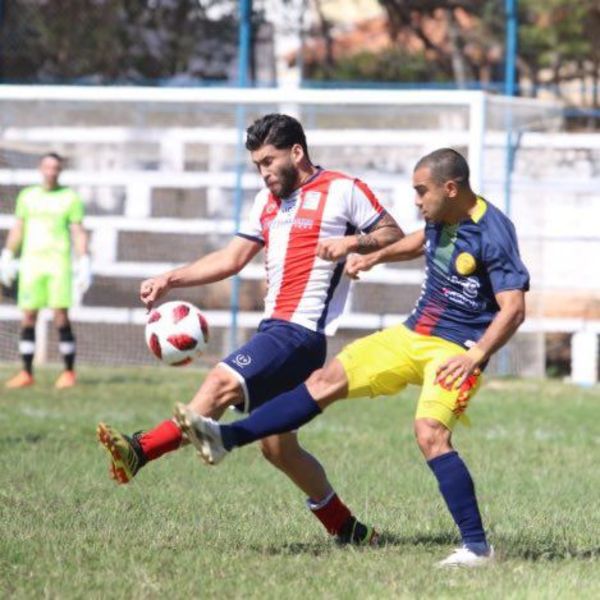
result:
[(23, 220), (22, 258), (70, 260), (70, 225), (83, 220), (83, 202), (75, 191), (62, 186), (54, 190), (27, 187), (17, 197), (15, 214)]

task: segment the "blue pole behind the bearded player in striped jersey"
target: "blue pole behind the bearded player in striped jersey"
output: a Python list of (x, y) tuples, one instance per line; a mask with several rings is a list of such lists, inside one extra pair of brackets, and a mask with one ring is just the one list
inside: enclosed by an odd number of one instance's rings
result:
[[(238, 86), (248, 87), (250, 83), (250, 44), (252, 39), (252, 0), (240, 0), (239, 6), (239, 37), (238, 37)], [(237, 145), (235, 160), (235, 191), (233, 221), (235, 232), (239, 231), (242, 218), (242, 204), (244, 190), (242, 177), (245, 168), (244, 131), (246, 121), (246, 108), (243, 104), (236, 107)], [(240, 312), (240, 278), (235, 275), (231, 282), (231, 329), (229, 337), (229, 351), (238, 347), (238, 316)]]

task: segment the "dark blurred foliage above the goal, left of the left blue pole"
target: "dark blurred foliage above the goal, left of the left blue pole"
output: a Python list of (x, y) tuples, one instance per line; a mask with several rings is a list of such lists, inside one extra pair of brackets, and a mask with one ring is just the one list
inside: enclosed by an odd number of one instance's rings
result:
[(2, 76), (94, 83), (226, 79), (236, 54), (236, 7), (232, 4), (212, 19), (209, 4), (215, 2), (6, 3)]

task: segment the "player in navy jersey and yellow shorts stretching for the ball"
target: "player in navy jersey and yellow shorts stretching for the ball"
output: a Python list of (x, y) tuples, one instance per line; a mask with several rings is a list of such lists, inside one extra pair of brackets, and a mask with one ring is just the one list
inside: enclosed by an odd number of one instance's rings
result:
[(448, 148), (417, 163), (416, 205), (425, 229), (373, 254), (351, 257), (357, 277), (374, 264), (425, 254), (426, 278), (408, 320), (351, 343), (306, 381), (231, 425), (176, 407), (200, 455), (216, 464), (235, 447), (307, 423), (343, 398), (395, 394), (421, 386), (415, 435), (459, 528), (462, 546), (440, 564), (478, 566), (493, 557), (469, 471), (452, 447), (490, 356), (524, 319), (529, 275), (510, 220), (477, 196), (465, 159)]

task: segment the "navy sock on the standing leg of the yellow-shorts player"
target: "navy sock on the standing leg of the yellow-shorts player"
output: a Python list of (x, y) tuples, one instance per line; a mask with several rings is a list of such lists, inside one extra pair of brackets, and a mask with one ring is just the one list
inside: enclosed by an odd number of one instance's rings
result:
[(467, 466), (452, 451), (428, 461), (438, 480), (440, 492), (460, 530), (463, 544), (476, 554), (487, 552), (488, 546), (475, 497), (475, 486)]

